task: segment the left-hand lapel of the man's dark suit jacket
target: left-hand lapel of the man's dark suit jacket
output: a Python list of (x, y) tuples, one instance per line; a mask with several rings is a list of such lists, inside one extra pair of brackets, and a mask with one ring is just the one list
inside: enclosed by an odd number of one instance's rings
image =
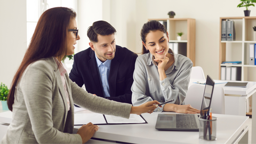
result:
[(94, 85), (96, 86), (96, 89), (97, 89), (99, 95), (97, 93), (95, 93), (95, 94), (97, 94), (100, 97), (104, 97), (94, 51), (91, 52), (90, 57), (91, 57), (91, 59), (89, 60), (89, 68), (90, 68), (91, 75), (92, 75), (92, 81), (93, 81)]

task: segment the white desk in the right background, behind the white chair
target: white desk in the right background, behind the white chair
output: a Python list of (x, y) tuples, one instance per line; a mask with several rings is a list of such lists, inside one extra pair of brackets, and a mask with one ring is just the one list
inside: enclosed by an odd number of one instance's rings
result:
[[(202, 79), (190, 79), (193, 82), (203, 81)], [(219, 81), (219, 80), (218, 80)], [(234, 81), (233, 81), (234, 82)], [(216, 84), (222, 86), (225, 93), (225, 113), (227, 115), (246, 115), (246, 99), (252, 95), (252, 106), (256, 106), (256, 82), (248, 82), (247, 87), (225, 87), (225, 84)], [(256, 110), (252, 110), (252, 143), (256, 143)]]

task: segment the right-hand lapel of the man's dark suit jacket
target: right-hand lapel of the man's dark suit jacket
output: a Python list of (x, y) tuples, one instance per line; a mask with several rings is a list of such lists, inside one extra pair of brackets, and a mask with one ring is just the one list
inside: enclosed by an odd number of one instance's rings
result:
[(108, 77), (110, 97), (114, 97), (116, 95), (116, 77), (117, 77), (117, 72), (120, 65), (120, 62), (118, 60), (119, 60), (119, 54), (117, 53), (117, 49), (116, 49), (115, 58), (111, 61), (109, 77)]

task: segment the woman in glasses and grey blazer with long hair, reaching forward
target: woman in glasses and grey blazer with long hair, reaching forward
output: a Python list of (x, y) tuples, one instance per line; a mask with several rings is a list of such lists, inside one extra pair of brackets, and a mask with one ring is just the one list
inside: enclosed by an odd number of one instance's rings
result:
[(66, 7), (49, 9), (39, 18), (7, 98), (13, 118), (2, 143), (85, 143), (99, 127), (89, 123), (73, 134), (74, 102), (95, 113), (124, 118), (152, 113), (159, 104), (133, 107), (110, 101), (69, 79), (61, 60), (74, 53), (80, 39), (75, 18)]

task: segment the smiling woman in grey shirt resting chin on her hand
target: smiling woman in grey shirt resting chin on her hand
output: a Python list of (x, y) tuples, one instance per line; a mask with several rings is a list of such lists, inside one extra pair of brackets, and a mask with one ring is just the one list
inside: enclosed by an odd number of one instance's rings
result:
[(169, 35), (159, 21), (149, 21), (141, 29), (142, 55), (135, 62), (132, 84), (132, 104), (140, 106), (152, 100), (166, 102), (155, 111), (199, 113), (184, 105), (188, 90), (191, 60), (169, 49)]

